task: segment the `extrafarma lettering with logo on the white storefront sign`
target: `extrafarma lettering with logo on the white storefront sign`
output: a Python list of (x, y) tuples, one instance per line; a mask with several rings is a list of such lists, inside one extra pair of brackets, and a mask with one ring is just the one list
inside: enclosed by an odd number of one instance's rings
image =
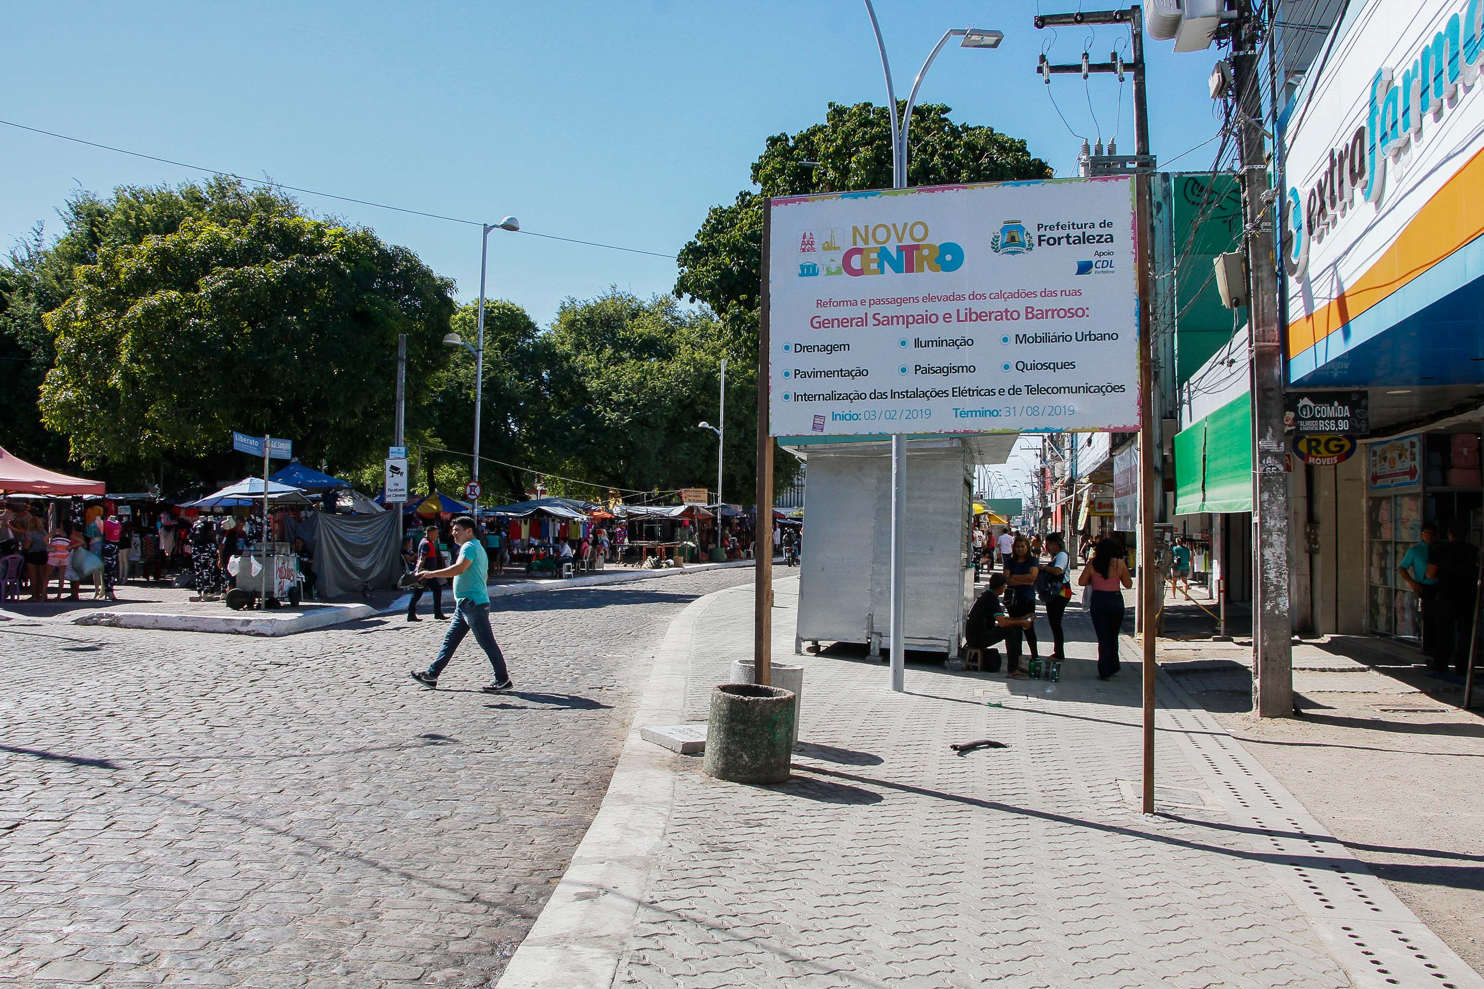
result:
[(1309, 245), (1319, 243), (1349, 212), (1355, 193), (1380, 206), (1386, 191), (1386, 159), (1401, 160), (1422, 136), (1422, 120), (1434, 120), (1457, 105), (1459, 86), (1471, 87), (1484, 61), (1484, 0), (1468, 0), (1425, 42), (1411, 65), (1382, 67), (1371, 76), (1365, 120), (1330, 148), (1330, 159), (1307, 190), (1288, 190), (1285, 267), (1300, 279), (1309, 268)]

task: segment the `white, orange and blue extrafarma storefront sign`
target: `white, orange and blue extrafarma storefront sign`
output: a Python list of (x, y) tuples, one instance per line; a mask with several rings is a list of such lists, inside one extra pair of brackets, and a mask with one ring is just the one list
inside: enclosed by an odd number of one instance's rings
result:
[(1367, 0), (1342, 30), (1284, 135), (1290, 380), (1472, 279), (1439, 262), (1484, 233), (1484, 3)]

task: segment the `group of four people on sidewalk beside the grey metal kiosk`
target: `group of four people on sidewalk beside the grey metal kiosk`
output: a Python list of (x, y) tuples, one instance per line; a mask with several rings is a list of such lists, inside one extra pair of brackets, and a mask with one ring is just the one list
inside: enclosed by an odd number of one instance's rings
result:
[[(996, 646), (1003, 642), (1006, 678), (1027, 679), (1028, 675), (1021, 669), (1021, 641), (1030, 648), (1031, 660), (1040, 658), (1036, 636), (1037, 601), (1045, 606), (1046, 624), (1051, 627), (1052, 652), (1048, 658), (1066, 658), (1063, 617), (1071, 602), (1071, 560), (1060, 532), (1046, 535), (1042, 546), (1039, 537), (1006, 531), (999, 537), (996, 550), (1000, 568), (991, 574), (988, 590), (969, 609), (965, 639), (969, 648), (985, 651), (990, 670), (1000, 666)], [(1104, 681), (1119, 672), (1117, 636), (1123, 626), (1123, 589), (1134, 586), (1123, 558), (1123, 546), (1117, 540), (1101, 540), (1076, 580), (1085, 589), (1082, 601), (1097, 632), (1098, 678)]]

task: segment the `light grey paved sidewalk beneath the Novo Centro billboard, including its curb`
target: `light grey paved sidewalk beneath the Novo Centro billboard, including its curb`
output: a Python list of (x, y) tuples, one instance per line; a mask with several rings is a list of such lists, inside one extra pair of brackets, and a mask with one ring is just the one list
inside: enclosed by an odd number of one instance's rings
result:
[[(502, 986), (1484, 986), (1163, 675), (1160, 814), (1140, 814), (1131, 641), (1100, 682), (1073, 611), (1061, 684), (911, 666), (895, 695), (867, 657), (792, 655), (795, 587), (775, 612), (775, 657), (806, 666), (794, 778), (721, 783), (631, 732)], [(751, 608), (690, 605), (640, 718), (702, 713)], [(1008, 747), (948, 749), (982, 737)]]

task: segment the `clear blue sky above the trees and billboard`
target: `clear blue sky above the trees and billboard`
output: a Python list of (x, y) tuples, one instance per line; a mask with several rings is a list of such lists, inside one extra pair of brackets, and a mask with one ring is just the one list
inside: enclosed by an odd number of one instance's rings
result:
[[(1092, 0), (1085, 0), (1092, 9)], [(1051, 10), (1074, 9), (1076, 0)], [(1109, 4), (1112, 6), (1112, 4)], [(905, 96), (948, 27), (997, 27), (994, 52), (945, 47), (923, 102), (965, 123), (1030, 141), (1061, 175), (1079, 139), (1034, 74), (1052, 42), (1036, 0), (880, 0)], [(1104, 59), (1125, 28), (1060, 30), (1052, 61)], [(1171, 159), (1211, 136), (1205, 79), (1212, 53), (1149, 43), (1155, 153)], [(0, 39), (7, 68), (0, 117), (181, 162), (499, 221), (527, 230), (674, 254), (706, 208), (748, 188), (770, 133), (824, 119), (825, 104), (884, 102), (880, 61), (858, 0), (775, 3), (49, 3), (16, 4)], [(1132, 83), (1060, 77), (1052, 92), (1071, 128), (1117, 130), (1132, 151)], [(1208, 168), (1215, 145), (1177, 168)], [(0, 240), (34, 222), (56, 231), (74, 188), (200, 178), (0, 126)], [(303, 196), (319, 214), (372, 227), (479, 288), (475, 227)], [(490, 236), (490, 295), (542, 325), (565, 297), (608, 285), (668, 292), (674, 262), (614, 251)]]

